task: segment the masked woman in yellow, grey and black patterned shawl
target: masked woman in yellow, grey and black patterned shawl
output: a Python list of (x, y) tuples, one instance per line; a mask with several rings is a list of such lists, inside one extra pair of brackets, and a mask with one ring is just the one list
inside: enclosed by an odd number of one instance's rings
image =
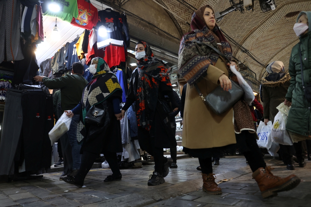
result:
[[(104, 182), (121, 180), (116, 153), (122, 152), (120, 120), (120, 101), (122, 89), (117, 76), (110, 72), (108, 64), (102, 58), (93, 58), (90, 72), (94, 75), (83, 90), (81, 102), (67, 112), (68, 117), (80, 111), (77, 140), (81, 144), (81, 166), (75, 176), (65, 177), (63, 181), (82, 187), (84, 178), (99, 154), (104, 154), (112, 175)], [(102, 115), (102, 114), (103, 115)], [(99, 116), (100, 123), (94, 123)]]

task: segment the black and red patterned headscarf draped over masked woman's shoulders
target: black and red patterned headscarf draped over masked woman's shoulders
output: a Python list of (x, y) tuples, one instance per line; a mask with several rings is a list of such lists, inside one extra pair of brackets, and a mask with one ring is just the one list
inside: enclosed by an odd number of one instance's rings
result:
[(142, 71), (139, 73), (136, 103), (137, 124), (149, 131), (156, 111), (159, 86), (164, 83), (172, 87), (172, 84), (169, 80), (166, 64), (154, 57), (146, 42), (138, 42), (137, 44), (143, 44), (146, 52), (146, 58), (138, 60), (137, 67), (149, 74)]

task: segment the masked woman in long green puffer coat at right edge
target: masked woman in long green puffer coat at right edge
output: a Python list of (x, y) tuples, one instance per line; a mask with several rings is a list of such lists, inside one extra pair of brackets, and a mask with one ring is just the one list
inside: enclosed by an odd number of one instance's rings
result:
[[(300, 42), (293, 47), (290, 55), (289, 73), (291, 79), (284, 102), (287, 106), (291, 105), (286, 123), (286, 130), (289, 131), (293, 142), (299, 143), (301, 143), (300, 141), (311, 139), (311, 105), (304, 96), (299, 52), (300, 46), (304, 84), (308, 85), (311, 84), (311, 21), (308, 21), (308, 19), (311, 20), (311, 11), (302, 11), (294, 26), (295, 33), (299, 36)], [(296, 152), (296, 154), (297, 159), (300, 157), (299, 166), (305, 165), (300, 152)]]

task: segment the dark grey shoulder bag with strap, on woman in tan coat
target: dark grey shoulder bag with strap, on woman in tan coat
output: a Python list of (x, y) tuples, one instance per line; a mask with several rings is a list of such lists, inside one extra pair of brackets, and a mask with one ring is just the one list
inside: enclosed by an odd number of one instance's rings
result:
[[(193, 40), (193, 42), (208, 46), (209, 48), (213, 49), (219, 56), (221, 56), (222, 58), (224, 58), (230, 63), (230, 60), (224, 54), (220, 53), (219, 50), (212, 47), (211, 45), (202, 43), (198, 40)], [(220, 115), (224, 113), (225, 111), (227, 111), (230, 107), (232, 107), (244, 95), (244, 90), (238, 84), (236, 84), (234, 81), (231, 81), (231, 85), (232, 85), (232, 88), (229, 89), (229, 91), (225, 91), (219, 85), (211, 93), (205, 96), (205, 98), (203, 97), (197, 84), (194, 86), (197, 89), (197, 92), (199, 96), (202, 98), (202, 100), (205, 101), (205, 103), (211, 108), (211, 110), (214, 113), (216, 113), (217, 115)]]

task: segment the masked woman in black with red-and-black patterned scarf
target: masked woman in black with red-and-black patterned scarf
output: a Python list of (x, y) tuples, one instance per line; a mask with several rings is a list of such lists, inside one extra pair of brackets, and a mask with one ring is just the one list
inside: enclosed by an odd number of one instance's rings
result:
[(179, 106), (174, 99), (166, 64), (154, 57), (146, 42), (137, 42), (135, 50), (137, 68), (132, 73), (126, 103), (121, 111), (124, 116), (135, 102), (139, 145), (155, 161), (155, 171), (149, 176), (148, 185), (155, 186), (165, 182), (164, 177), (173, 163), (171, 158), (163, 156), (163, 148), (177, 146), (169, 113), (178, 110)]

